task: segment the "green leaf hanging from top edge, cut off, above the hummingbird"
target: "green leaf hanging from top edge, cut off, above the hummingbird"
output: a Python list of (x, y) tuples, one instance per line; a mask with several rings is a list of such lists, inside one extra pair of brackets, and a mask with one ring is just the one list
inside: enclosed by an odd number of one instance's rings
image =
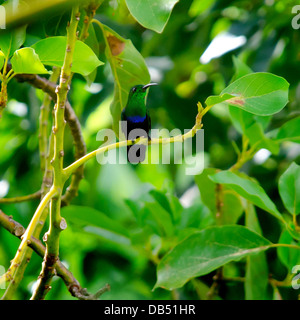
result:
[(126, 0), (132, 16), (143, 27), (161, 33), (179, 0)]

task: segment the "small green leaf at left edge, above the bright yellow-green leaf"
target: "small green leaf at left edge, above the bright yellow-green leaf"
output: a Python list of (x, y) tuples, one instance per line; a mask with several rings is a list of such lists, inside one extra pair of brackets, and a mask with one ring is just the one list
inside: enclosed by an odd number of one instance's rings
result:
[(6, 58), (10, 58), (13, 53), (21, 47), (26, 38), (26, 26), (14, 29), (9, 32), (1, 31), (0, 49)]

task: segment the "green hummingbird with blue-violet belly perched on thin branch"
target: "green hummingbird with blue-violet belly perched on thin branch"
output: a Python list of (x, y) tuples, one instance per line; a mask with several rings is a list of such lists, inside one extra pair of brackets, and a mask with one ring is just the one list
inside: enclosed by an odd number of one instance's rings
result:
[[(145, 98), (147, 89), (150, 86), (156, 85), (157, 83), (148, 83), (146, 85), (139, 84), (130, 89), (127, 104), (121, 113), (121, 120), (123, 121), (122, 131), (127, 140), (135, 140), (139, 137), (145, 137), (150, 140), (149, 131), (151, 129), (151, 118), (146, 108)], [(135, 129), (139, 130), (133, 132)], [(133, 138), (130, 136), (130, 132), (132, 132)], [(127, 146), (127, 159), (129, 162), (143, 162), (145, 157), (145, 145)]]

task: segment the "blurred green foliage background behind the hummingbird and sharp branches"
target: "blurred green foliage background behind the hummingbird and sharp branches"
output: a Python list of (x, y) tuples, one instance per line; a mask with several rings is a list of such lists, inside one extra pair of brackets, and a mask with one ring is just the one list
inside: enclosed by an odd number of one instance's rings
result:
[[(299, 116), (300, 31), (291, 26), (291, 9), (295, 4), (296, 1), (292, 0), (180, 0), (162, 33), (138, 24), (123, 0), (104, 1), (96, 18), (132, 41), (146, 59), (151, 80), (159, 82), (159, 87), (150, 92), (147, 100), (154, 128), (179, 128), (182, 131), (191, 128), (197, 114), (197, 102), (220, 94), (234, 76), (238, 77), (236, 70), (240, 68), (233, 61), (236, 56), (254, 72), (271, 72), (290, 83), (288, 105), (262, 125), (263, 129), (276, 136), (281, 125)], [(68, 10), (52, 12), (42, 20), (35, 17), (27, 26), (24, 46), (31, 46), (45, 37), (65, 35), (68, 18)], [(206, 64), (200, 63), (211, 41), (225, 31), (244, 36), (246, 42)], [(97, 69), (90, 86), (86, 78), (74, 75), (69, 94), (70, 103), (80, 119), (88, 151), (100, 145), (96, 140), (97, 132), (112, 126), (109, 107), (114, 88), (102, 35), (96, 27), (90, 30), (90, 34), (99, 41), (99, 47), (92, 49), (99, 60), (106, 63)], [(42, 182), (37, 135), (42, 94), (27, 83), (12, 80), (8, 86), (8, 97), (8, 106), (0, 122), (1, 197), (34, 193)], [(228, 106), (216, 106), (205, 115), (205, 167), (228, 169), (237, 160), (233, 142), (241, 148), (243, 141), (241, 132), (232, 123), (231, 113)], [(279, 197), (278, 179), (292, 161), (299, 163), (300, 160), (299, 135), (288, 134), (294, 138), (282, 143), (277, 154), (274, 152), (266, 159), (254, 157), (242, 168), (260, 183), (280, 212), (285, 209)], [(278, 135), (278, 139), (282, 138)], [(65, 165), (72, 161), (72, 137), (67, 128)], [(109, 283), (111, 291), (105, 293), (103, 299), (205, 297), (215, 271), (200, 280), (188, 282), (176, 292), (161, 288), (152, 291), (152, 288), (156, 283), (157, 259), (194, 230), (216, 224), (214, 210), (211, 210), (215, 200), (210, 199), (211, 193), (204, 190), (200, 197), (194, 177), (185, 175), (183, 165), (100, 166), (96, 160), (91, 160), (85, 166), (84, 176), (78, 197), (70, 207), (62, 210), (68, 228), (62, 232), (60, 240), (60, 259), (81, 285), (94, 292)], [(208, 178), (196, 177), (197, 183), (198, 179), (205, 183)], [(208, 188), (210, 184), (212, 182), (208, 181)], [(236, 212), (234, 217), (228, 215), (229, 218), (224, 218), (222, 223), (245, 224), (247, 217), (242, 213), (241, 204), (237, 203), (236, 197), (230, 198), (229, 189), (226, 192), (225, 210), (229, 212), (228, 208), (234, 207)], [(1, 205), (1, 210), (27, 226), (38, 203), (35, 200)], [(78, 209), (78, 206), (82, 208)], [(256, 232), (274, 243), (283, 238), (282, 243), (296, 243), (287, 232), (282, 233), (273, 216), (257, 208), (257, 217), (261, 232)], [(105, 232), (105, 223), (114, 232)], [(45, 227), (44, 232), (46, 230)], [(128, 238), (128, 230), (131, 239)], [(18, 239), (0, 228), (1, 265), (9, 266), (18, 245)], [(290, 258), (286, 250), (278, 254), (275, 249), (267, 251), (267, 273), (274, 279), (284, 280), (293, 263), (299, 262), (299, 256), (295, 255)], [(228, 277), (245, 277), (245, 264), (245, 260), (230, 262), (224, 266), (223, 272)], [(16, 299), (31, 296), (40, 268), (40, 257), (33, 255)], [(266, 270), (264, 266), (262, 269)], [(274, 285), (266, 284), (265, 294), (260, 298), (272, 299), (273, 290)], [(296, 299), (299, 294), (290, 287), (278, 287), (278, 290), (283, 299)], [(249, 290), (246, 293), (243, 283), (224, 281), (220, 283), (215, 298), (252, 297)], [(72, 297), (63, 282), (55, 277), (47, 299)]]

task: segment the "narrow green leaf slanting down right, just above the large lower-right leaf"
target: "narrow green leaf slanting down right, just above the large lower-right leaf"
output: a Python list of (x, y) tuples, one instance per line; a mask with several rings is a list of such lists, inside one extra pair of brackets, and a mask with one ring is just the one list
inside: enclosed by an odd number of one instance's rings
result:
[(234, 190), (245, 199), (284, 222), (284, 219), (277, 210), (275, 204), (257, 182), (241, 177), (231, 171), (218, 172), (217, 174), (210, 176), (210, 179), (216, 183), (225, 184), (228, 188)]

